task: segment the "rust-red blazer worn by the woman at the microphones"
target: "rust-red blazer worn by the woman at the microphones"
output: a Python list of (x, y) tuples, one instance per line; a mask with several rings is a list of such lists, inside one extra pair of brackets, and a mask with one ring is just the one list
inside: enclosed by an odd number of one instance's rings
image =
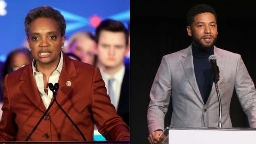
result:
[[(129, 140), (129, 127), (117, 115), (106, 94), (98, 68), (71, 60), (63, 52), (63, 67), (57, 101), (88, 141), (93, 140), (94, 123), (106, 140)], [(46, 108), (32, 75), (32, 63), (5, 78), (0, 140), (25, 141)], [(67, 81), (71, 86), (67, 86)], [(52, 98), (53, 100), (53, 98)], [(29, 140), (83, 140), (72, 123), (54, 103)]]

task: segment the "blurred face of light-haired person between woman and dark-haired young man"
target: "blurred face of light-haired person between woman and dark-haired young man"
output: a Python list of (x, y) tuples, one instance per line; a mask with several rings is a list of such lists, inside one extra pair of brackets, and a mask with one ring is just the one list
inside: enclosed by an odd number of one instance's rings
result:
[(69, 48), (69, 52), (78, 56), (81, 61), (89, 64), (94, 62), (94, 50), (96, 42), (90, 38), (81, 37), (77, 39)]

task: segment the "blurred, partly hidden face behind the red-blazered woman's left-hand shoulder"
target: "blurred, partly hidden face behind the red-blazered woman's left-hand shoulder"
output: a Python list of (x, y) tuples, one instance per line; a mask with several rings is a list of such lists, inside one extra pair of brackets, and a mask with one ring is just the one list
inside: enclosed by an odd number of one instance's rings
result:
[(21, 67), (24, 67), (25, 65), (28, 65), (29, 62), (29, 58), (22, 52), (19, 52), (12, 57), (10, 62), (11, 71), (15, 71)]

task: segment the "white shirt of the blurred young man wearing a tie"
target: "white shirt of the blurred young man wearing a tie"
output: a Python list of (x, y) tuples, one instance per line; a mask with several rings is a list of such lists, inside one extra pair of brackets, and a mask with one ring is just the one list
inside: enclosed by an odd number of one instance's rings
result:
[[(112, 83), (112, 88), (114, 90), (114, 96), (115, 96), (115, 110), (118, 108), (118, 103), (120, 99), (120, 92), (121, 92), (121, 86), (123, 82), (123, 76), (125, 75), (125, 66), (123, 65), (121, 69), (115, 73), (115, 75), (110, 76), (107, 73), (105, 73), (101, 68), (100, 68), (100, 73), (102, 76), (103, 81), (105, 82), (106, 88), (107, 88), (107, 94), (108, 94), (108, 80), (111, 78), (114, 78), (114, 81)], [(113, 104), (113, 102), (111, 102)]]

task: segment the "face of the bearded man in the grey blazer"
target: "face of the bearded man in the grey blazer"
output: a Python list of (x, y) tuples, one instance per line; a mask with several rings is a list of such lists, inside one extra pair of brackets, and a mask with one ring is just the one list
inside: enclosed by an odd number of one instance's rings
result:
[(218, 35), (215, 16), (208, 12), (196, 15), (192, 25), (187, 26), (187, 32), (199, 48), (208, 49), (212, 47)]

